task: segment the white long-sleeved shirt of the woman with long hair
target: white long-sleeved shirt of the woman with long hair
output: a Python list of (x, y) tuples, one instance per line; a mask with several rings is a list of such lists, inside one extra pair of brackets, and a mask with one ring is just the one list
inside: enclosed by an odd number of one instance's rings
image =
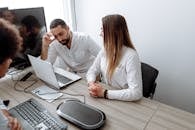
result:
[(139, 57), (131, 48), (122, 48), (122, 58), (116, 67), (111, 80), (107, 72), (107, 60), (104, 50), (101, 50), (93, 65), (87, 72), (88, 82), (94, 82), (98, 74), (102, 74), (103, 82), (112, 86), (115, 90), (108, 90), (109, 99), (134, 101), (142, 97), (142, 77)]

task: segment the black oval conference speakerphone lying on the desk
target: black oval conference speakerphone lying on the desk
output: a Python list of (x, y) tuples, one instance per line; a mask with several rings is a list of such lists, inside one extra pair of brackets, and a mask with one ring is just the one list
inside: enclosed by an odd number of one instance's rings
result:
[(78, 100), (66, 100), (57, 107), (57, 114), (76, 126), (98, 129), (105, 124), (106, 116), (101, 110)]

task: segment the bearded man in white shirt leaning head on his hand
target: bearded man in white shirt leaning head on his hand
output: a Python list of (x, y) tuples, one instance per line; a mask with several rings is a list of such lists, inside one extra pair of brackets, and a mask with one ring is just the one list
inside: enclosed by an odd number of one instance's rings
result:
[(72, 32), (62, 19), (54, 19), (43, 36), (41, 59), (53, 64), (59, 57), (61, 68), (84, 77), (99, 50), (90, 36)]

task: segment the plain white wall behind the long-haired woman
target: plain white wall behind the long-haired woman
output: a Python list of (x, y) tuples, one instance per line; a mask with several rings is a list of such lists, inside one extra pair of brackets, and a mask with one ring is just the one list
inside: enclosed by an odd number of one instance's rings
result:
[(126, 17), (142, 61), (160, 73), (155, 99), (195, 113), (194, 0), (75, 0), (77, 30), (99, 44), (101, 18)]

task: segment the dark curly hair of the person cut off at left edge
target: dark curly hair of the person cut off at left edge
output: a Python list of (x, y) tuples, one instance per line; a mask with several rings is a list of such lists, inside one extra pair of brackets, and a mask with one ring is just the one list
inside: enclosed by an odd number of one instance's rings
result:
[(0, 64), (13, 58), (21, 45), (21, 37), (14, 25), (0, 18)]

